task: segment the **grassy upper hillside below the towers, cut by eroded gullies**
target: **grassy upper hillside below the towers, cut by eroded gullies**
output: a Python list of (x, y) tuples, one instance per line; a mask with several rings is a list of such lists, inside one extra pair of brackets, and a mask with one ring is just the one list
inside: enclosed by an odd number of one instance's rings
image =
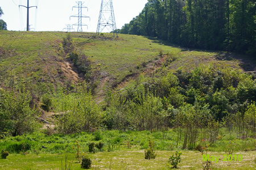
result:
[[(57, 88), (77, 84), (83, 80), (76, 67), (61, 52), (65, 32), (0, 32), (0, 82), (3, 88), (20, 85), (32, 90), (35, 96)], [(164, 42), (137, 35), (120, 35), (118, 39), (105, 34), (95, 37), (88, 33), (71, 33), (75, 48), (84, 53), (97, 70), (93, 80), (96, 96), (104, 96), (107, 87), (116, 87), (139, 73), (149, 74), (160, 67), (165, 56), (174, 53), (177, 60), (168, 69), (185, 71), (200, 64), (220, 64), (243, 71), (255, 71), (255, 61), (246, 56), (225, 52), (208, 52), (166, 45)], [(61, 44), (61, 45), (60, 45)]]

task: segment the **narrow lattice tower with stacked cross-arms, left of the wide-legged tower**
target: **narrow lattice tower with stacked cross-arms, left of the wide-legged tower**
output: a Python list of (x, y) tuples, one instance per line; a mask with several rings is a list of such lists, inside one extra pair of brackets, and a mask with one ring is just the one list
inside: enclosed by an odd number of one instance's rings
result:
[(77, 26), (77, 32), (79, 32), (79, 31), (82, 32), (82, 26), (86, 26), (88, 28), (88, 25), (82, 23), (82, 18), (89, 18), (90, 19), (89, 16), (82, 15), (82, 9), (87, 9), (87, 11), (88, 11), (88, 7), (83, 6), (84, 2), (79, 1), (79, 2), (76, 2), (76, 3), (77, 3), (77, 6), (73, 6), (72, 10), (73, 10), (74, 7), (77, 8), (78, 9), (78, 14), (77, 15), (72, 15), (72, 16), (70, 16), (70, 18), (71, 17), (77, 17), (78, 18), (78, 22), (76, 24), (73, 24), (73, 26)]

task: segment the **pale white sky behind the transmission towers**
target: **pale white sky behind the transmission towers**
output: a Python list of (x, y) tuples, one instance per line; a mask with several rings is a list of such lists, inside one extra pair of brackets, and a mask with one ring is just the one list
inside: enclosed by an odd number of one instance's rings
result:
[[(75, 0), (30, 0), (30, 6), (38, 5), (38, 9), (30, 8), (30, 25), (34, 31), (63, 31), (66, 24), (77, 23), (77, 18), (69, 16), (76, 15), (76, 8), (72, 11), (72, 6), (76, 6)], [(84, 0), (82, 14), (90, 16), (90, 19), (83, 18), (82, 22), (88, 25), (83, 27), (84, 32), (96, 32), (98, 15), (100, 13), (101, 0)], [(141, 13), (147, 0), (113, 0), (115, 22), (117, 28), (122, 28), (125, 23), (129, 23), (135, 16)], [(27, 0), (0, 0), (0, 7), (3, 10), (3, 20), (7, 23), (7, 30), (24, 31), (27, 26), (27, 9), (18, 5), (27, 6)], [(75, 30), (77, 27), (74, 26)], [(107, 32), (104, 30), (103, 32)]]

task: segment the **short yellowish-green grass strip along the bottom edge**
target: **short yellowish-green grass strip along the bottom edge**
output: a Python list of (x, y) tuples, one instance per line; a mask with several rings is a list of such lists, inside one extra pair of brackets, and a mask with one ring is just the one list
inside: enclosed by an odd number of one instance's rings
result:
[[(156, 151), (155, 160), (145, 160), (144, 151), (114, 151), (87, 154), (92, 159), (92, 169), (169, 169), (168, 159), (174, 151)], [(242, 161), (223, 161), (224, 152), (209, 152), (212, 156), (220, 156), (213, 169), (254, 169), (256, 152), (237, 152), (243, 156)], [(65, 154), (11, 154), (6, 160), (0, 159), (0, 169), (61, 169), (64, 166)], [(71, 169), (81, 169), (74, 154), (68, 154)], [(180, 169), (202, 169), (203, 158), (200, 152), (183, 151)]]

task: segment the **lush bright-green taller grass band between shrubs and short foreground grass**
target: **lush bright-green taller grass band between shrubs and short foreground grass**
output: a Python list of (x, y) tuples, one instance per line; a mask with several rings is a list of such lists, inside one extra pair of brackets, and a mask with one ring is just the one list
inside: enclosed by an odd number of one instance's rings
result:
[[(99, 135), (100, 134), (100, 135)], [(228, 134), (223, 128), (220, 132), (222, 137), (214, 144), (210, 144), (210, 151), (223, 152), (230, 140), (236, 141), (237, 146), (235, 151), (254, 151), (255, 139), (247, 138), (242, 140), (236, 138), (235, 133)], [(155, 142), (156, 150), (158, 151), (174, 151), (181, 150), (183, 139), (179, 143), (176, 142), (177, 132), (169, 130), (161, 131), (117, 131), (106, 130), (97, 132), (81, 132), (71, 135), (45, 135), (42, 132), (35, 132), (31, 135), (23, 135), (16, 137), (7, 137), (0, 140), (0, 150), (5, 149), (11, 154), (19, 154), (20, 152), (28, 152), (30, 154), (64, 154), (75, 153), (74, 147), (76, 142), (79, 142), (81, 152), (88, 152), (88, 144), (90, 142), (104, 143), (102, 151), (123, 151), (127, 150), (127, 143), (131, 144), (131, 150), (138, 151), (148, 148), (148, 140)], [(199, 139), (200, 136), (199, 136)], [(197, 141), (199, 143), (200, 141)], [(98, 150), (96, 150), (98, 151)]]

